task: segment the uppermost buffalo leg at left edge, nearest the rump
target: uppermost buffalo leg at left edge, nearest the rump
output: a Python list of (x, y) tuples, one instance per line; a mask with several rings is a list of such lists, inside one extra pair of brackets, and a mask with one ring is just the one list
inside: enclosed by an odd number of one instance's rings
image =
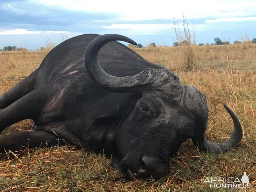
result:
[(37, 70), (0, 96), (0, 110), (8, 107), (30, 91), (33, 91), (36, 74)]

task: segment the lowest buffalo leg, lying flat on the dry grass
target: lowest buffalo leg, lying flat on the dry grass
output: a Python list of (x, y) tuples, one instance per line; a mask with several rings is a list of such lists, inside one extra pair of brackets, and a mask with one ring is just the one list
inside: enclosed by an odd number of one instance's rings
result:
[(54, 145), (63, 145), (64, 141), (54, 133), (47, 131), (28, 131), (10, 133), (0, 138), (0, 153), (11, 151), (19, 151), (39, 146), (51, 147)]

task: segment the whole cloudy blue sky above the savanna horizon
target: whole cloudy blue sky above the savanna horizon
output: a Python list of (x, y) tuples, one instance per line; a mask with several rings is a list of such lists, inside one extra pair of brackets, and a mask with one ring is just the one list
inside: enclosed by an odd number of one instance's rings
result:
[[(86, 33), (125, 35), (143, 46), (172, 46), (173, 18), (195, 31), (196, 43), (256, 38), (256, 0), (0, 0), (0, 49), (4, 46), (36, 50), (46, 41)], [(124, 43), (125, 44), (125, 43)], [(127, 44), (125, 44), (127, 45)]]

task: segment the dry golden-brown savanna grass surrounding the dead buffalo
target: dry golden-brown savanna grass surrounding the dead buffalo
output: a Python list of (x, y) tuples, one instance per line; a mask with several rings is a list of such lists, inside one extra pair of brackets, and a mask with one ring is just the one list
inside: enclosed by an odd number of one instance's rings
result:
[[(222, 142), (233, 132), (226, 103), (238, 116), (243, 131), (239, 146), (228, 153), (201, 152), (188, 140), (170, 159), (171, 172), (160, 180), (127, 181), (110, 167), (110, 159), (71, 145), (20, 151), (13, 159), (0, 160), (0, 191), (217, 191), (204, 183), (206, 177), (238, 177), (249, 173), (256, 191), (256, 46), (193, 46), (196, 70), (184, 66), (181, 47), (134, 49), (147, 61), (177, 73), (183, 85), (194, 85), (207, 96), (209, 125), (206, 137)], [(34, 71), (45, 51), (0, 53), (0, 94)], [(25, 120), (4, 130), (32, 131)]]

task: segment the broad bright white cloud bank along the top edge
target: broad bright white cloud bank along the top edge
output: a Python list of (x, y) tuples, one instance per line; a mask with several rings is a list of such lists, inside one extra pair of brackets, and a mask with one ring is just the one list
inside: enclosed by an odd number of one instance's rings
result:
[(141, 21), (154, 19), (182, 18), (182, 13), (187, 18), (222, 18), (246, 17), (255, 15), (256, 1), (254, 0), (183, 0), (166, 1), (158, 0), (150, 3), (146, 0), (130, 0), (125, 6), (119, 0), (29, 0), (49, 7), (59, 9), (85, 11), (87, 13), (106, 13), (119, 19), (119, 21)]

